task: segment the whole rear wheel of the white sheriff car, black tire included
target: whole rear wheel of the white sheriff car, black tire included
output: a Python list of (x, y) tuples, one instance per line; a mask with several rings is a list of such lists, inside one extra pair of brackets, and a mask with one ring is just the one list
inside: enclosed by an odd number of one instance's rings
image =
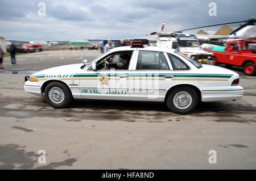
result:
[[(184, 99), (179, 100), (181, 101), (180, 104), (179, 104), (179, 101), (177, 100), (177, 98), (181, 98), (181, 96), (183, 96), (183, 98), (184, 97), (187, 98), (186, 99), (187, 102), (184, 105), (181, 105)], [(198, 95), (195, 89), (188, 86), (180, 86), (180, 87), (174, 88), (169, 92), (169, 94), (167, 95), (166, 104), (167, 104), (167, 107), (172, 112), (177, 114), (186, 114), (193, 111), (196, 108), (198, 101), (199, 101)], [(176, 106), (174, 102), (176, 102)]]

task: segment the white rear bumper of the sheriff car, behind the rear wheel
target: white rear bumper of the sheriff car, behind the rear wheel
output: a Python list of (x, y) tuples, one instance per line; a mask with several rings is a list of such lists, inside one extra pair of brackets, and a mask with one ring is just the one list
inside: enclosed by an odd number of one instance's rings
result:
[(237, 100), (241, 99), (245, 90), (205, 90), (201, 91), (203, 102), (218, 102), (224, 100)]

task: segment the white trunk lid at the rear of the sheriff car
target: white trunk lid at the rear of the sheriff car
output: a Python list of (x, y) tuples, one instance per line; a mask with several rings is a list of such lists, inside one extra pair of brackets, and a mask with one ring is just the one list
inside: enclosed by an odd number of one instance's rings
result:
[(202, 74), (229, 74), (229, 75), (238, 75), (236, 72), (222, 68), (220, 66), (207, 65), (203, 64), (203, 67), (199, 69)]

